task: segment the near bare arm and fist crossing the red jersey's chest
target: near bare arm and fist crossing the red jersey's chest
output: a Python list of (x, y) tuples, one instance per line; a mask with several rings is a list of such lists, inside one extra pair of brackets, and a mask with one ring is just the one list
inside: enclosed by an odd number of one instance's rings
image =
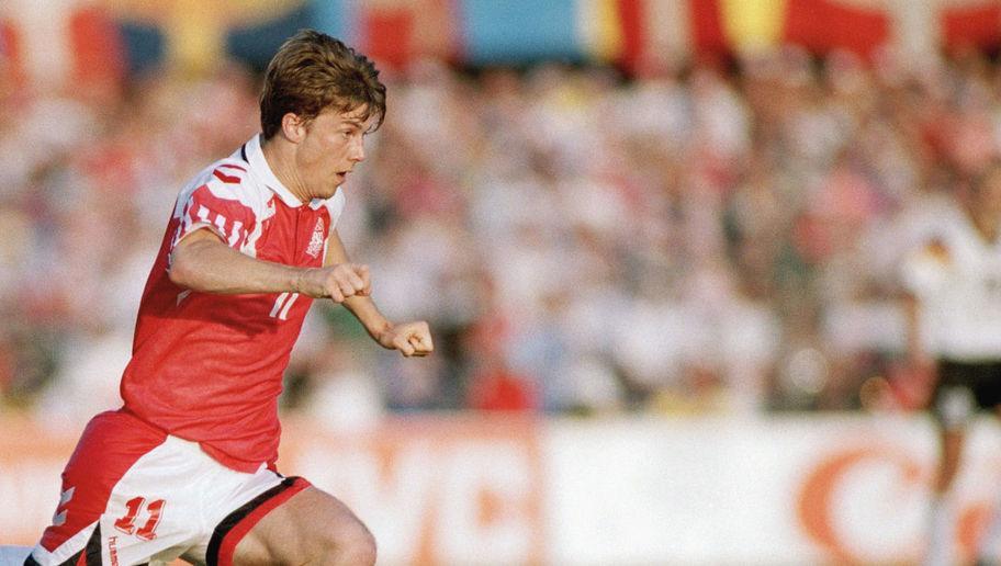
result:
[(368, 294), (369, 268), (353, 263), (324, 268), (294, 268), (251, 258), (226, 246), (209, 228), (195, 230), (177, 244), (171, 256), (170, 281), (204, 293), (302, 293), (330, 297)]

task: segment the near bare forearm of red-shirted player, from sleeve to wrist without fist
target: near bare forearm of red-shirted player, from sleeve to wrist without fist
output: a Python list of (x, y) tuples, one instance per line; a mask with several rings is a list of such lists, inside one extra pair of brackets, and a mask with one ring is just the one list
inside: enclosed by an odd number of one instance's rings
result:
[(245, 256), (211, 239), (175, 250), (169, 271), (175, 284), (203, 293), (283, 293), (300, 291), (306, 270)]

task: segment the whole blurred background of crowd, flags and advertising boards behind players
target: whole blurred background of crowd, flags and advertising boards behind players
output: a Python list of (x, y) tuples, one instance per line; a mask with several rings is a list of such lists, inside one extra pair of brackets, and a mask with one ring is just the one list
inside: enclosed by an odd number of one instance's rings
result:
[(0, 543), (34, 542), (120, 403), (176, 195), (257, 133), (301, 27), (389, 86), (338, 229), (436, 352), (316, 302), (284, 467), (387, 564), (919, 555), (934, 445), (899, 263), (1001, 148), (998, 1), (2, 0)]

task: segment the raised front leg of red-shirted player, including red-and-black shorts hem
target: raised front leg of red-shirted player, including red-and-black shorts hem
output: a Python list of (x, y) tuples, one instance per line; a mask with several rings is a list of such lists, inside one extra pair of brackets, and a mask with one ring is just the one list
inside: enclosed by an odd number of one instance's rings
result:
[(216, 528), (210, 566), (372, 565), (375, 540), (350, 509), (302, 479), (289, 478)]

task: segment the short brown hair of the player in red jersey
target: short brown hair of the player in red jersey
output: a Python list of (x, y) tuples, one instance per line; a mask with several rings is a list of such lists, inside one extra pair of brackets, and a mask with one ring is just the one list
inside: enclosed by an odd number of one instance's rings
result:
[(268, 64), (260, 95), (261, 131), (270, 139), (282, 116), (293, 113), (306, 122), (326, 109), (349, 112), (364, 106), (363, 120), (385, 116), (385, 86), (364, 55), (315, 30), (289, 38)]

